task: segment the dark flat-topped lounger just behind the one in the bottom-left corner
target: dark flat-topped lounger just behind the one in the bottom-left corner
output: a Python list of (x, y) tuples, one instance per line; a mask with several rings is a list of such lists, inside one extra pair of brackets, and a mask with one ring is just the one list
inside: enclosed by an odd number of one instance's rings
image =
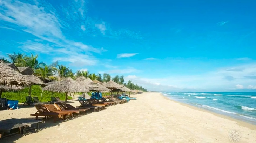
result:
[[(27, 126), (24, 128), (23, 133), (25, 133), (26, 130), (39, 129), (39, 123), (45, 123), (45, 121), (29, 120), (29, 119), (16, 119), (16, 118), (1, 120), (0, 122), (25, 124)], [(36, 124), (36, 127), (31, 127), (34, 124)], [(27, 128), (27, 127), (31, 127), (31, 128)]]

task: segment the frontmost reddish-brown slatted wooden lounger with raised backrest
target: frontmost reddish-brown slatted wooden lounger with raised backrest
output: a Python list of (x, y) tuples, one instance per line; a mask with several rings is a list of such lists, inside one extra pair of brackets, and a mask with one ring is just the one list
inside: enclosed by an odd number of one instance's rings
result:
[(65, 120), (66, 115), (68, 114), (68, 113), (63, 113), (63, 112), (60, 113), (60, 112), (48, 111), (48, 109), (43, 104), (35, 105), (35, 107), (36, 107), (38, 113), (36, 112), (35, 114), (30, 114), (30, 115), (35, 116), (36, 120), (38, 120), (38, 116), (43, 116), (43, 117), (45, 117), (45, 119), (48, 117), (53, 117), (54, 123), (56, 123), (58, 116), (62, 116), (63, 120)]

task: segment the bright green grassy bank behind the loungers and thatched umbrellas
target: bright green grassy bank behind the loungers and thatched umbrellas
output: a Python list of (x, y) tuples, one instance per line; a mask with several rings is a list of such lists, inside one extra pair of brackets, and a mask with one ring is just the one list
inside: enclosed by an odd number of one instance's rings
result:
[[(52, 92), (43, 91), (42, 100), (41, 100), (41, 93), (42, 93), (41, 86), (32, 85), (32, 88), (31, 88), (31, 96), (32, 97), (37, 96), (39, 98), (39, 100), (42, 102), (50, 101)], [(19, 103), (26, 101), (26, 99), (25, 99), (26, 96), (29, 96), (29, 87), (24, 88), (20, 91), (16, 91), (16, 92), (3, 92), (2, 93), (2, 98), (7, 98), (9, 100), (18, 100)], [(53, 97), (60, 97), (61, 100), (65, 100), (65, 93), (53, 92)], [(72, 99), (72, 98), (70, 96), (68, 96), (68, 99)]]

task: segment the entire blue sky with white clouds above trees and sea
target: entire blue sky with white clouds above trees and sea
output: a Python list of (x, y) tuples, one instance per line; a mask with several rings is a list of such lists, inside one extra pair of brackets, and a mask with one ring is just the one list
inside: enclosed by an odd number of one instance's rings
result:
[(33, 53), (149, 90), (256, 89), (253, 0), (0, 0), (0, 56)]

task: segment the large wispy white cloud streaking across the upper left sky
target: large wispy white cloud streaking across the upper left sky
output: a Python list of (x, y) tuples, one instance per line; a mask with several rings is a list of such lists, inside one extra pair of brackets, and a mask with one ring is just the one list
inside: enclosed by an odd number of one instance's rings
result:
[[(12, 29), (15, 27), (15, 29), (38, 37), (35, 40), (19, 42), (19, 47), (26, 52), (33, 50), (39, 53), (54, 53), (54, 60), (71, 62), (74, 66), (95, 65), (98, 60), (90, 52), (100, 54), (106, 50), (67, 39), (62, 32), (69, 30), (67, 21), (59, 17), (57, 10), (52, 5), (43, 1), (40, 2), (42, 3), (36, 1), (31, 3), (1, 1), (0, 20), (12, 23)], [(85, 1), (77, 0), (75, 5), (77, 9), (71, 10), (77, 11), (82, 17), (86, 11)], [(68, 12), (69, 16), (72, 17), (70, 15), (72, 12)], [(74, 19), (70, 18), (69, 20)], [(85, 27), (81, 26), (80, 28), (83, 30)]]

